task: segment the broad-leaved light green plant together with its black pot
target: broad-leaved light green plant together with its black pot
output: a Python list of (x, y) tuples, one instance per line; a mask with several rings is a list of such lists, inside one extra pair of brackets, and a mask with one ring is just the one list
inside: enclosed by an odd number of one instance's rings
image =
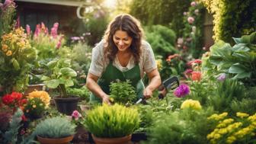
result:
[(53, 59), (47, 63), (47, 75), (43, 75), (43, 83), (48, 88), (58, 88), (59, 96), (54, 97), (57, 110), (71, 115), (77, 109), (79, 97), (68, 95), (66, 88), (74, 85), (75, 70), (70, 68), (70, 59)]

